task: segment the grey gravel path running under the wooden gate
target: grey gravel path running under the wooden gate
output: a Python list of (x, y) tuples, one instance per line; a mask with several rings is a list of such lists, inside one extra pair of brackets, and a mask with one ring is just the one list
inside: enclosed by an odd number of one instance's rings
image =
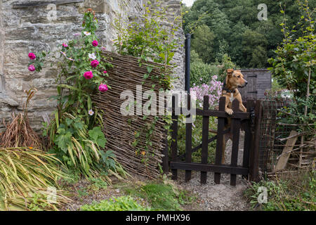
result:
[[(232, 141), (228, 141), (225, 150), (225, 163), (230, 164)], [(240, 134), (238, 165), (242, 163), (242, 153), (244, 149), (244, 132)], [(200, 184), (200, 172), (192, 172), (192, 179), (185, 183), (185, 172), (178, 172), (178, 181), (176, 183), (192, 191), (199, 198), (199, 210), (218, 210), (218, 211), (239, 211), (249, 210), (249, 204), (243, 195), (246, 189), (246, 181), (241, 175), (237, 175), (237, 185), (230, 186), (230, 174), (221, 174), (220, 184), (214, 183), (213, 173), (207, 173), (207, 183)]]

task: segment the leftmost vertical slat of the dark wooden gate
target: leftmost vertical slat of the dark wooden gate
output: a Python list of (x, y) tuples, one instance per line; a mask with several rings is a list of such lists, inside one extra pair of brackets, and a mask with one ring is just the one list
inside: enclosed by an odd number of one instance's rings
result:
[[(171, 134), (171, 161), (177, 162), (178, 158), (178, 115), (175, 115), (178, 107), (178, 96), (172, 96), (172, 134)], [(171, 169), (172, 179), (178, 179), (178, 169)]]

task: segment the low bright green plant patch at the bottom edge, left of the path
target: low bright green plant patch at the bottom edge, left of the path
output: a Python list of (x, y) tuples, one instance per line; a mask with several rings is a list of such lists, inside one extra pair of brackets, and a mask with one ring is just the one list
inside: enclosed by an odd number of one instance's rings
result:
[(121, 196), (84, 205), (81, 211), (150, 211), (150, 208), (139, 205), (131, 196)]

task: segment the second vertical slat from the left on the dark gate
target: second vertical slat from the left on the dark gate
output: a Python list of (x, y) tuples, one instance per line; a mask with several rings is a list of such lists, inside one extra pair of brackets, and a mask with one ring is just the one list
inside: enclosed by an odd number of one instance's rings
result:
[[(191, 109), (191, 96), (187, 95), (187, 110)], [(188, 118), (192, 115), (187, 115), (185, 125), (185, 162), (192, 161), (192, 122), (188, 122)], [(185, 182), (190, 181), (192, 170), (185, 170)]]

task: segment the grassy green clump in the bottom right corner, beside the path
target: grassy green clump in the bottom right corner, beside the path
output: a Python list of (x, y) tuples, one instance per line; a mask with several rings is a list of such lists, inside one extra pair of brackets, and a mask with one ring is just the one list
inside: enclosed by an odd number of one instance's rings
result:
[[(267, 188), (267, 203), (258, 203), (263, 193), (260, 187)], [(253, 183), (245, 191), (252, 208), (265, 211), (315, 211), (316, 210), (316, 172), (307, 172), (291, 177), (276, 177), (267, 181)]]

